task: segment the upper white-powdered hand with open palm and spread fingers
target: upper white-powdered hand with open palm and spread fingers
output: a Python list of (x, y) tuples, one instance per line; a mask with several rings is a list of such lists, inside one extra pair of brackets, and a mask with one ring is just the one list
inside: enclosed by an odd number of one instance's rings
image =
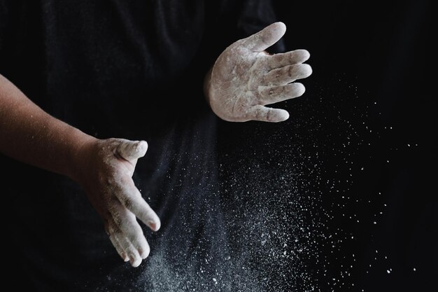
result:
[(264, 52), (285, 30), (282, 22), (276, 22), (236, 41), (218, 57), (206, 78), (207, 99), (217, 116), (232, 122), (289, 118), (288, 111), (265, 105), (302, 95), (304, 85), (292, 82), (310, 76), (312, 69), (302, 64), (310, 56), (306, 50), (276, 55)]

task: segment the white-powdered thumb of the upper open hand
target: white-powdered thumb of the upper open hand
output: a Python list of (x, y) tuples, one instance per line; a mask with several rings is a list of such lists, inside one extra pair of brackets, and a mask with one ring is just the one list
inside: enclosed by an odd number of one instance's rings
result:
[(260, 32), (243, 39), (243, 46), (253, 52), (262, 52), (281, 39), (281, 36), (283, 36), (285, 32), (285, 24), (283, 22), (275, 22)]

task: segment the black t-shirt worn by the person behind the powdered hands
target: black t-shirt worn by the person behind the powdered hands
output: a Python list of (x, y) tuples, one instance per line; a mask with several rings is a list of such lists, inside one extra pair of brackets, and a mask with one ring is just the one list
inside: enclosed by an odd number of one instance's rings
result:
[(148, 141), (134, 181), (162, 219), (143, 226), (151, 253), (134, 269), (76, 183), (0, 156), (17, 286), (233, 291), (202, 83), (222, 50), (271, 22), (263, 0), (0, 1), (0, 74), (87, 134)]

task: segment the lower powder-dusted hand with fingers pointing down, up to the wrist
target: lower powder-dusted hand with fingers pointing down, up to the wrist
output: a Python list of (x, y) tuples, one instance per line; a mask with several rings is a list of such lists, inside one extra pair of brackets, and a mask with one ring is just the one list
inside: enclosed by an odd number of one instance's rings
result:
[(105, 230), (123, 260), (133, 267), (149, 254), (150, 247), (136, 217), (154, 231), (160, 218), (134, 186), (136, 162), (148, 149), (146, 141), (92, 140), (78, 155), (80, 176), (89, 200), (104, 220)]

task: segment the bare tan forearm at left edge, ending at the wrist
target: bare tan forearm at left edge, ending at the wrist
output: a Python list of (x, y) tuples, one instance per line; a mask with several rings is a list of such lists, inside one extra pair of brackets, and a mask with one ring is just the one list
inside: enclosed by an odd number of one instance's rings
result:
[(74, 178), (74, 160), (93, 137), (45, 113), (0, 75), (0, 152)]

